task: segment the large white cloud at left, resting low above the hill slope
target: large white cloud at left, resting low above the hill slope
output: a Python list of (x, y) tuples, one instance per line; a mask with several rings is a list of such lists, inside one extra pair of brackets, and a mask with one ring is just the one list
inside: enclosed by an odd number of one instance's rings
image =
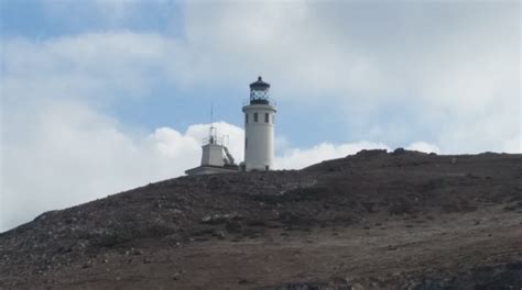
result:
[[(7, 114), (2, 127), (0, 231), (43, 211), (61, 209), (121, 190), (183, 175), (200, 160), (208, 124), (186, 132), (161, 127), (133, 132), (86, 105), (70, 102)], [(243, 131), (216, 122), (242, 159)], [(35, 202), (36, 201), (36, 202)]]

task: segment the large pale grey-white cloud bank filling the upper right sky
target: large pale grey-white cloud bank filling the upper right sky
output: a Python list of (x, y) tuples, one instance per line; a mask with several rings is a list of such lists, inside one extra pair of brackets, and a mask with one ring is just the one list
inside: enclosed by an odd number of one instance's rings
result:
[[(519, 9), (515, 2), (189, 2), (183, 51), (194, 66), (188, 76), (172, 76), (236, 83), (262, 71), (280, 99), (336, 103), (347, 113), (339, 125), (363, 140), (421, 137), (446, 153), (502, 150), (521, 131)], [(385, 119), (401, 109), (412, 112), (407, 120)]]

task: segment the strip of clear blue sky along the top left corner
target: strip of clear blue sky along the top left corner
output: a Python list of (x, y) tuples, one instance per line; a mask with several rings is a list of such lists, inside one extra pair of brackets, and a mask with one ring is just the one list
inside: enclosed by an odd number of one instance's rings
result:
[[(133, 11), (124, 12), (124, 5)], [(106, 30), (183, 33), (180, 1), (8, 0), (2, 1), (2, 20), (4, 35), (32, 38)]]

